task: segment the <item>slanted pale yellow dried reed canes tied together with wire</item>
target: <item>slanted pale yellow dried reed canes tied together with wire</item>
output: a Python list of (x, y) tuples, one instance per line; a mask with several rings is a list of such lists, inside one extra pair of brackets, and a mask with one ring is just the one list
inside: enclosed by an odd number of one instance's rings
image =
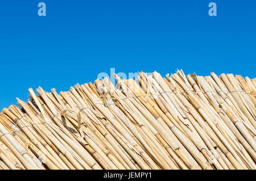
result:
[(134, 79), (29, 89), (0, 113), (0, 169), (256, 169), (256, 79)]

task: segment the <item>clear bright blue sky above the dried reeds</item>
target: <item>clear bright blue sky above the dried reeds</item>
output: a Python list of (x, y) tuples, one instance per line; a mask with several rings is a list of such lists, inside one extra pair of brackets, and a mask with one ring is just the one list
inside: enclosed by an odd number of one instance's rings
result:
[(29, 87), (67, 91), (110, 68), (254, 78), (255, 9), (254, 0), (1, 1), (0, 110), (27, 100)]

